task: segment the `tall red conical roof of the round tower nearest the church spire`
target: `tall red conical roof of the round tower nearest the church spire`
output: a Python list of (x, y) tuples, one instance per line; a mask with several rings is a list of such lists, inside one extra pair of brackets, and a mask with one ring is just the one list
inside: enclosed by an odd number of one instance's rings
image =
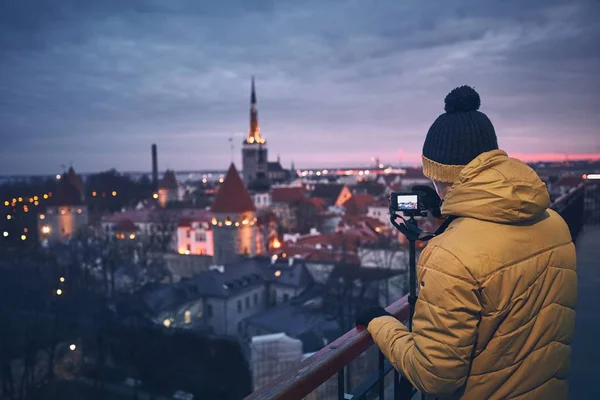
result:
[(212, 205), (212, 212), (243, 213), (246, 211), (256, 211), (256, 207), (235, 165), (232, 163), (229, 166), (227, 175), (225, 175), (225, 180), (217, 192)]

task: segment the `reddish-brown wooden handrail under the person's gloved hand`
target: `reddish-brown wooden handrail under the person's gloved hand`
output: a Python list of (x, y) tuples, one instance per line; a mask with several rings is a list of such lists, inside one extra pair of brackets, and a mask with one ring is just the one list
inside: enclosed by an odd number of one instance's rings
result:
[[(400, 321), (409, 314), (408, 297), (403, 297), (386, 307)], [(353, 328), (304, 360), (297, 371), (282, 374), (246, 397), (246, 400), (295, 400), (308, 396), (348, 363), (373, 345), (373, 339), (363, 327)]]

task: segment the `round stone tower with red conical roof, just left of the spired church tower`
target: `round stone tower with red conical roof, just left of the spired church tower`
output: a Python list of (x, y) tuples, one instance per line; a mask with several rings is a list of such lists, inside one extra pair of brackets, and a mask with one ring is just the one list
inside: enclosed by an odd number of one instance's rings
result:
[(225, 265), (257, 253), (256, 208), (233, 163), (212, 205), (213, 262)]

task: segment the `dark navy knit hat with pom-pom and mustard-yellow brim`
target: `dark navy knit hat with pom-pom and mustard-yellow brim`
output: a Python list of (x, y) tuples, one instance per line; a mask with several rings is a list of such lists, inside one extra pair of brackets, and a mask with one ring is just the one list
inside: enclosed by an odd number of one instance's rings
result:
[(454, 183), (460, 171), (475, 157), (498, 148), (494, 125), (478, 111), (479, 94), (469, 86), (452, 90), (444, 99), (440, 115), (425, 138), (423, 173), (446, 183)]

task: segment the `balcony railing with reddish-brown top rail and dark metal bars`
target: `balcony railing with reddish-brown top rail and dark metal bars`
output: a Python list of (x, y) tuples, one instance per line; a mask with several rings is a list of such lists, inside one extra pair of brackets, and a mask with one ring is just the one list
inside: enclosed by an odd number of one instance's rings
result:
[[(595, 190), (594, 193), (596, 192), (598, 190)], [(595, 208), (593, 210), (585, 210), (586, 193), (589, 198), (589, 190), (586, 191), (586, 184), (581, 184), (569, 193), (556, 199), (550, 206), (563, 217), (569, 226), (573, 240), (577, 238), (585, 225), (586, 218), (584, 218), (584, 214), (586, 212), (598, 214), (600, 210), (598, 207), (600, 205), (598, 201), (600, 196), (597, 195), (595, 195), (595, 200), (592, 202)], [(403, 297), (391, 304), (387, 307), (387, 310), (400, 321), (406, 321), (409, 316), (407, 297)], [(384, 399), (386, 394), (388, 394), (386, 389), (389, 389), (390, 386), (388, 382), (386, 387), (386, 377), (390, 376), (389, 374), (392, 371), (394, 372), (392, 383), (393, 394), (390, 398), (404, 400), (400, 396), (400, 388), (406, 384), (406, 381), (385, 360), (381, 352), (378, 352), (377, 370), (353, 388), (350, 393), (346, 393), (347, 377), (345, 372), (347, 366), (372, 345), (373, 340), (366, 329), (354, 328), (304, 360), (297, 370), (275, 378), (271, 383), (248, 396), (246, 400), (303, 399), (325, 384), (335, 374), (337, 374), (337, 399)], [(403, 393), (407, 393), (405, 390), (406, 387), (403, 388)], [(412, 398), (414, 393), (415, 391), (412, 390), (408, 396), (404, 395), (404, 397)]]

